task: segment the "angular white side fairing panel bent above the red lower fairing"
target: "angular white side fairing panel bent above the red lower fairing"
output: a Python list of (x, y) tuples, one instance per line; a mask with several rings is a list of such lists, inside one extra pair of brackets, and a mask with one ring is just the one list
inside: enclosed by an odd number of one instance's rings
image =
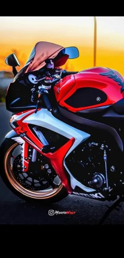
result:
[[(50, 129), (50, 130), (52, 130), (56, 133), (59, 133), (59, 134), (65, 136), (65, 137), (67, 137), (68, 139), (74, 138), (75, 139), (74, 144), (70, 148), (68, 153), (66, 154), (66, 157), (80, 143), (82, 143), (83, 141), (85, 141), (86, 139), (88, 139), (90, 137), (89, 134), (87, 134), (83, 131), (80, 131), (80, 130), (78, 130), (78, 129), (76, 129), (76, 128), (58, 120), (57, 118), (55, 118), (51, 114), (51, 112), (47, 111), (46, 109), (41, 109), (36, 114), (33, 113), (33, 114), (29, 115), (28, 117), (26, 117), (23, 120), (23, 123), (29, 123), (29, 124), (45, 127), (47, 129)], [(76, 186), (78, 186), (82, 190), (87, 191), (87, 192), (96, 191), (92, 188), (84, 186), (82, 183), (78, 182), (78, 180), (76, 180), (73, 177), (73, 175), (71, 175), (71, 172), (66, 167), (65, 159), (64, 159), (64, 166), (65, 166), (66, 170), (68, 171), (68, 173), (70, 174), (70, 182), (71, 182), (71, 187), (72, 187), (73, 190)]]

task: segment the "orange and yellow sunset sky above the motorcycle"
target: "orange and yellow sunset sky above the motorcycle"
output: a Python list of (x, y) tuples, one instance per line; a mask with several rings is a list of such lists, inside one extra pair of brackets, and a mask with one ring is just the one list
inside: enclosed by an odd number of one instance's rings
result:
[[(96, 19), (96, 66), (115, 69), (124, 76), (124, 16)], [(67, 70), (93, 67), (94, 17), (0, 17), (0, 71), (11, 71), (4, 62), (11, 53), (22, 67), (38, 41), (78, 47), (80, 56), (68, 61)]]

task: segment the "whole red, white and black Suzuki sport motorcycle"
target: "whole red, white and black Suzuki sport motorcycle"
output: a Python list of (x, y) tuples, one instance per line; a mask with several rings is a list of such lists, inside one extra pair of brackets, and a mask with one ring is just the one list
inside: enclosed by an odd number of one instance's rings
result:
[[(38, 42), (19, 72), (15, 54), (5, 60), (14, 73), (6, 93), (12, 131), (0, 148), (0, 175), (24, 200), (54, 203), (76, 195), (123, 201), (124, 78), (106, 67), (61, 78), (59, 67), (78, 56), (76, 47)], [(48, 57), (55, 73), (40, 78), (35, 72)], [(30, 102), (36, 92), (36, 103)]]

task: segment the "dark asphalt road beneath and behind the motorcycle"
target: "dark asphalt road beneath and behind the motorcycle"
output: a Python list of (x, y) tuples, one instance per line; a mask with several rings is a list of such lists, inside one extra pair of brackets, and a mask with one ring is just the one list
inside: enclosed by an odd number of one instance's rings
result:
[[(10, 112), (0, 105), (0, 144), (8, 131)], [(0, 224), (99, 224), (103, 214), (113, 202), (100, 202), (84, 197), (68, 196), (49, 206), (31, 205), (19, 199), (0, 179)], [(74, 211), (74, 215), (58, 214), (49, 216), (48, 211)], [(124, 224), (124, 205), (114, 210), (104, 224)]]

